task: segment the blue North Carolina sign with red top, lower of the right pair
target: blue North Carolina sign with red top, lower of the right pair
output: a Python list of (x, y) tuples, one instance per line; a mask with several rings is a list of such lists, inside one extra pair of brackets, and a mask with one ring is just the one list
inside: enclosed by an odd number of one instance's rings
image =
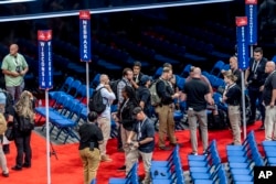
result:
[(238, 68), (248, 67), (247, 17), (236, 17), (236, 39)]

